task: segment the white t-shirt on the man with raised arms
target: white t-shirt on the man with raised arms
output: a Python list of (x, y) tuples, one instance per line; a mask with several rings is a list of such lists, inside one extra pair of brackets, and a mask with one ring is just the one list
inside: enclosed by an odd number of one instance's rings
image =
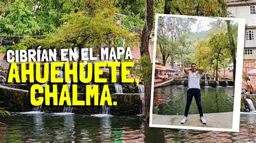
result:
[(191, 89), (191, 88), (198, 88), (198, 89), (200, 89), (201, 74), (199, 74), (199, 71), (192, 72), (190, 70), (190, 72), (188, 73), (187, 77), (188, 77), (188, 87), (187, 87), (187, 89)]

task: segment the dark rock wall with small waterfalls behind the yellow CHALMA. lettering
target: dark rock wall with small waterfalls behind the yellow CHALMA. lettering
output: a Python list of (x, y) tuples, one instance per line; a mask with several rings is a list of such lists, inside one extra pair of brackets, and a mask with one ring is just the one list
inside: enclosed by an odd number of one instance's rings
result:
[[(130, 86), (131, 89), (129, 89), (129, 85), (125, 85), (125, 91), (134, 92), (138, 90), (138, 87), (133, 87), (132, 85)], [(99, 94), (101, 94), (101, 91), (102, 89), (99, 89)], [(114, 92), (114, 85), (110, 85), (112, 102), (117, 102), (116, 106), (110, 106), (111, 115), (138, 115), (140, 113), (140, 106), (142, 106), (140, 101), (140, 94), (114, 94)], [(58, 97), (59, 96), (60, 95), (58, 94)], [(85, 94), (78, 94), (78, 100), (85, 101), (85, 99)], [(10, 112), (27, 112), (32, 111), (33, 108), (33, 106), (30, 103), (29, 90), (16, 89), (0, 85), (0, 101), (0, 103), (2, 103), (0, 107), (3, 107)], [(50, 104), (51, 105), (49, 106), (45, 106), (45, 103), (43, 103), (40, 111), (44, 111), (46, 113), (63, 112), (64, 106), (52, 105), (52, 99), (50, 99)], [(65, 104), (66, 103), (64, 102), (64, 105)], [(91, 98), (91, 105), (73, 106), (73, 112), (77, 114), (98, 114), (101, 110), (102, 106), (94, 105), (94, 98)]]

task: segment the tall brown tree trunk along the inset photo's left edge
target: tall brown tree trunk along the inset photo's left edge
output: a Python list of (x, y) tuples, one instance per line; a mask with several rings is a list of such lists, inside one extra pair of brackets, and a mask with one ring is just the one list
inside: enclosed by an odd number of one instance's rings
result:
[[(146, 55), (150, 59), (150, 54), (149, 54), (149, 38), (150, 38), (150, 33), (153, 27), (153, 14), (154, 14), (154, 9), (153, 9), (153, 0), (148, 0), (146, 4), (146, 23), (143, 28), (142, 32), (142, 38), (140, 40), (140, 55)], [(143, 67), (144, 68), (149, 68), (149, 67)], [(152, 71), (152, 70), (151, 70)], [(148, 120), (150, 117), (150, 98), (151, 98), (151, 77), (152, 73), (148, 72), (147, 70), (143, 70), (143, 76), (144, 76), (144, 98), (145, 98), (145, 106), (144, 110), (142, 113), (142, 118), (145, 120)], [(146, 81), (146, 82), (145, 82)]]

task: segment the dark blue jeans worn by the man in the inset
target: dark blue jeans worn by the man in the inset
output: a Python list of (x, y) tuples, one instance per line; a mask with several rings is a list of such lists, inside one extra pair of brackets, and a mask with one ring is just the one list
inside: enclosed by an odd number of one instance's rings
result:
[(197, 103), (197, 107), (198, 107), (198, 111), (200, 114), (200, 117), (203, 116), (203, 109), (202, 109), (202, 105), (201, 105), (201, 91), (200, 89), (197, 88), (191, 88), (187, 90), (187, 103), (186, 103), (186, 109), (185, 109), (185, 115), (184, 116), (188, 116), (188, 110), (190, 110), (190, 105), (192, 102), (192, 99), (194, 98), (196, 99), (196, 103)]

